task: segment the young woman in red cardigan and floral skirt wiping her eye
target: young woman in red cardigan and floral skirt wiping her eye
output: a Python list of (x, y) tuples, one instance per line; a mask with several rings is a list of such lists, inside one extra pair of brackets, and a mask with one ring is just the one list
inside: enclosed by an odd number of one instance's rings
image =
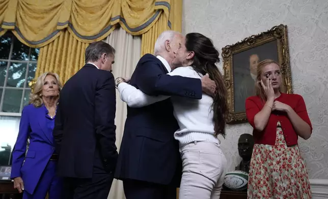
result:
[(248, 198), (311, 198), (306, 165), (298, 136), (307, 140), (312, 125), (303, 97), (280, 92), (280, 64), (258, 64), (256, 96), (247, 98), (246, 115), (253, 126), (254, 149)]

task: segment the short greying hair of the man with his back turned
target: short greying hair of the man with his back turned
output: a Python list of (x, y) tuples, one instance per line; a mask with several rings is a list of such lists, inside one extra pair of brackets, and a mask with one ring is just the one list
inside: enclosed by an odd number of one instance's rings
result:
[(114, 55), (115, 49), (103, 41), (91, 43), (86, 49), (86, 63), (98, 61), (103, 53), (106, 53), (108, 56)]

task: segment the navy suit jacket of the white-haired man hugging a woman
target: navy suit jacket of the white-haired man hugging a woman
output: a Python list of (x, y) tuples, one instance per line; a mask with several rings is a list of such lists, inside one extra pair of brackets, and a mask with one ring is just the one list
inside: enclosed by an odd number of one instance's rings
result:
[[(138, 62), (130, 84), (149, 95), (202, 98), (200, 79), (167, 73), (159, 59), (146, 54)], [(182, 163), (173, 137), (178, 128), (169, 99), (142, 108), (127, 107), (115, 178), (159, 184), (169, 184), (174, 177), (179, 181)]]

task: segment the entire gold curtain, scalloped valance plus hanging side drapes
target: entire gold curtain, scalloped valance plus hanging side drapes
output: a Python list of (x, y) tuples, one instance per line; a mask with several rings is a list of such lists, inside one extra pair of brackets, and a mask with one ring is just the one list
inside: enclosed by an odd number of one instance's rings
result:
[(121, 25), (142, 35), (142, 53), (153, 53), (164, 30), (181, 32), (182, 0), (0, 0), (0, 36), (10, 30), (40, 48), (36, 77), (58, 73), (65, 83), (84, 65), (88, 44)]

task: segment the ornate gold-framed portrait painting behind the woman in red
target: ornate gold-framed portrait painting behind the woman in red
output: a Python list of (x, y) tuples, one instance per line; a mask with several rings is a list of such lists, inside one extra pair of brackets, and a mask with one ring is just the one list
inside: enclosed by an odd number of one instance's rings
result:
[(227, 123), (247, 122), (244, 104), (255, 95), (256, 67), (259, 61), (274, 59), (282, 68), (282, 91), (292, 93), (287, 26), (280, 24), (258, 35), (222, 48), (224, 79), (228, 89)]

